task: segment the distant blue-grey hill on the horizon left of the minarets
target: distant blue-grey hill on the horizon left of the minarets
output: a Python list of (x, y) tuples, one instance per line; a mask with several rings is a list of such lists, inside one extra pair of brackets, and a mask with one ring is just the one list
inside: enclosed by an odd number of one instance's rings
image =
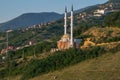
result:
[(8, 22), (1, 23), (0, 29), (7, 30), (25, 28), (27, 26), (56, 21), (62, 17), (63, 15), (55, 12), (25, 13)]

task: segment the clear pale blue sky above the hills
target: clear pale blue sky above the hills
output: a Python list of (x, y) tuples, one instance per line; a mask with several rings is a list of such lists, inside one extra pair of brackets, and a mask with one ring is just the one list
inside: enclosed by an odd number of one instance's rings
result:
[(101, 4), (108, 0), (0, 0), (0, 23), (11, 20), (23, 13), (58, 12), (63, 13), (65, 5), (70, 10)]

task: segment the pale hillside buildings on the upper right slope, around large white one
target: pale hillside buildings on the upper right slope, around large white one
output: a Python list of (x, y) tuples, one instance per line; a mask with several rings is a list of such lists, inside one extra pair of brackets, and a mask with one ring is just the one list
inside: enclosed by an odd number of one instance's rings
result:
[(103, 15), (106, 15), (108, 13), (111, 12), (117, 12), (120, 11), (120, 8), (116, 8), (114, 6), (119, 6), (119, 3), (117, 4), (107, 4), (107, 5), (100, 5), (98, 9), (93, 10), (91, 13), (87, 13), (87, 12), (81, 12), (77, 18), (78, 19), (82, 19), (85, 20), (86, 18), (90, 18), (90, 17), (101, 17)]

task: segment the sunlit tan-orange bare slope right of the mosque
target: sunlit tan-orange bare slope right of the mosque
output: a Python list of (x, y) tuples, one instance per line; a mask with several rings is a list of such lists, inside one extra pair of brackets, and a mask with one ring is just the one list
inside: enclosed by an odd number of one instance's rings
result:
[(82, 33), (82, 36), (90, 37), (93, 42), (115, 42), (120, 41), (120, 28), (117, 27), (105, 27), (98, 28), (93, 27)]

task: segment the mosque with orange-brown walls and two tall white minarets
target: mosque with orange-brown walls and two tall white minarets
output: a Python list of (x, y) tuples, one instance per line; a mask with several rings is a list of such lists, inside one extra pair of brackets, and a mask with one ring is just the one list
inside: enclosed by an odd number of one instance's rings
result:
[(64, 13), (64, 35), (59, 41), (57, 41), (58, 50), (65, 50), (69, 48), (80, 48), (80, 39), (74, 39), (73, 36), (73, 6), (71, 7), (71, 16), (70, 16), (70, 34), (67, 33), (67, 8), (65, 7)]

